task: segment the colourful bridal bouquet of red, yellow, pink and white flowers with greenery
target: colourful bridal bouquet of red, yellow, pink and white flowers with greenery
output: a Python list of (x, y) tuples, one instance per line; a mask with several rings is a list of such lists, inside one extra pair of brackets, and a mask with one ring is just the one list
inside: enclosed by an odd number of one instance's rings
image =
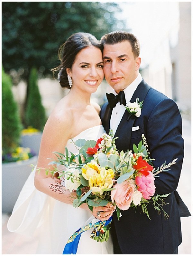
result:
[[(168, 171), (173, 160), (169, 164), (163, 163), (160, 168), (153, 168), (152, 160), (149, 157), (146, 138), (142, 135), (142, 141), (136, 146), (133, 145), (133, 152), (120, 153), (116, 149), (115, 139), (112, 130), (109, 134), (104, 133), (97, 142), (79, 139), (72, 141), (77, 147), (77, 154), (69, 152), (66, 148), (65, 155), (55, 152), (57, 161), (55, 172), (58, 166), (65, 166), (60, 171), (60, 176), (65, 179), (66, 189), (70, 192), (76, 191), (77, 197), (73, 200), (73, 206), (79, 207), (87, 203), (92, 211), (93, 207), (105, 206), (112, 203), (116, 207), (118, 219), (121, 216), (120, 210), (128, 210), (130, 207), (141, 207), (142, 212), (148, 214), (147, 206), (150, 202), (154, 208), (168, 218), (168, 214), (162, 208), (165, 204), (164, 198), (169, 194), (156, 195), (154, 180), (160, 172)], [(91, 238), (96, 241), (107, 241), (110, 230), (110, 222), (99, 221), (93, 228)]]

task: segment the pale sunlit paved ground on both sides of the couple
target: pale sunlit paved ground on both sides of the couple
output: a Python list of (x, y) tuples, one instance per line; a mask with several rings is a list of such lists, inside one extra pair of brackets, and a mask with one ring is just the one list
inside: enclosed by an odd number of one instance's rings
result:
[[(185, 157), (178, 192), (191, 212), (191, 122), (183, 119)], [(2, 254), (35, 254), (37, 238), (26, 238), (7, 230), (9, 214), (2, 214)], [(178, 254), (191, 254), (191, 217), (181, 218), (182, 239)]]

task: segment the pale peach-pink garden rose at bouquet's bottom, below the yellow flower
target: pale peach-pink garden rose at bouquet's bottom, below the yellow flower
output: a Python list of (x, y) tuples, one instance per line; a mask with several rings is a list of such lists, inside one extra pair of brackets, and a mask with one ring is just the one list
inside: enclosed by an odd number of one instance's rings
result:
[(128, 210), (133, 201), (135, 185), (132, 180), (116, 183), (111, 191), (111, 200), (120, 210)]

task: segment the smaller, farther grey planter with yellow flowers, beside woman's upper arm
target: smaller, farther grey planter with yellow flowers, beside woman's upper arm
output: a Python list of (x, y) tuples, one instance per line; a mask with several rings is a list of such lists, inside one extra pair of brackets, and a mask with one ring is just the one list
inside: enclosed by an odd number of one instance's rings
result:
[(38, 155), (41, 143), (42, 133), (23, 134), (21, 136), (21, 146), (31, 148), (31, 150)]

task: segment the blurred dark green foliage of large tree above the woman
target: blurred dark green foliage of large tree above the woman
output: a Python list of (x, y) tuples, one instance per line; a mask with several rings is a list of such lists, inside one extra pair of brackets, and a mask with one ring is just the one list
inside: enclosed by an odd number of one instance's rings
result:
[(76, 32), (103, 34), (124, 29), (117, 2), (2, 2), (2, 63), (14, 85), (28, 83), (32, 67), (52, 75), (59, 46)]

